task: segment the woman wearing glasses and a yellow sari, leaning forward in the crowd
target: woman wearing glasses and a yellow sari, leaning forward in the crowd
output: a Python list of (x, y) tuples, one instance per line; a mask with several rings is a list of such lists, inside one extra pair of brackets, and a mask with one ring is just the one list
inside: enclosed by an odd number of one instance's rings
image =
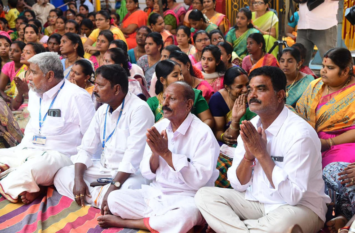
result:
[(122, 33), (122, 31), (118, 27), (115, 27), (113, 24), (111, 24), (111, 16), (107, 11), (98, 11), (95, 16), (95, 22), (97, 29), (94, 29), (92, 33), (88, 36), (88, 39), (85, 41), (85, 52), (89, 54), (94, 54), (97, 51), (96, 47), (92, 45), (96, 42), (99, 33), (102, 30), (110, 30), (113, 33), (113, 37), (115, 40), (119, 39), (126, 42), (125, 35)]

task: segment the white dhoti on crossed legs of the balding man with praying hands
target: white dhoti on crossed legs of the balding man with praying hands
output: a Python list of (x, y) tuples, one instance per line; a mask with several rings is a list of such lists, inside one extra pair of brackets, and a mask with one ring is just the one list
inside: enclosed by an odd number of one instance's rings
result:
[(142, 185), (138, 190), (115, 190), (107, 203), (113, 215), (124, 219), (144, 219), (151, 232), (187, 232), (204, 219), (192, 196), (164, 195)]

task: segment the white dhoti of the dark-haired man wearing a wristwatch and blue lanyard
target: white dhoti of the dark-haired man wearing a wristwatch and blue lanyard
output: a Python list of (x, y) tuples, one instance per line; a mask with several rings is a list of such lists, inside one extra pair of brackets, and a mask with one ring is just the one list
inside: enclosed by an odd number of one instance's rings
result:
[[(73, 195), (75, 178), (75, 165), (61, 168), (54, 177), (54, 186), (58, 193), (75, 200)], [(104, 172), (100, 169), (100, 162), (95, 161), (94, 165), (87, 168), (83, 175), (84, 181), (89, 188), (91, 197), (85, 196), (85, 201), (93, 206), (101, 208), (104, 196), (111, 184), (104, 186), (90, 187), (90, 183), (99, 178), (114, 178), (110, 171)], [(144, 178), (140, 171), (131, 174), (121, 185), (120, 189), (140, 189), (142, 184), (148, 184), (149, 181)]]

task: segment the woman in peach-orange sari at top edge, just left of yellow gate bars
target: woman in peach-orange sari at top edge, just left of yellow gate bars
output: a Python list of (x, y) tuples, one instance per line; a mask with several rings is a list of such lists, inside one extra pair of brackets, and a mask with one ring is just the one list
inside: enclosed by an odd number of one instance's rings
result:
[(229, 20), (222, 13), (215, 11), (214, 10), (215, 7), (216, 7), (216, 0), (203, 1), (203, 8), (205, 10), (204, 14), (207, 16), (209, 21), (211, 21), (211, 23), (216, 24), (219, 27), (219, 30), (223, 34), (225, 34), (226, 32), (228, 32), (230, 28)]

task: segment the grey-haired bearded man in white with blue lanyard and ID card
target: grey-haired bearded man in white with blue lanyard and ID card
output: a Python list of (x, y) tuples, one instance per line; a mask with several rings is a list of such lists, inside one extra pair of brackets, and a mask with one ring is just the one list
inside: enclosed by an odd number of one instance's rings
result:
[(69, 156), (76, 154), (95, 113), (87, 91), (64, 79), (58, 54), (43, 52), (28, 62), (31, 119), (20, 144), (0, 149), (0, 193), (14, 203), (20, 195), (26, 204), (72, 164)]

